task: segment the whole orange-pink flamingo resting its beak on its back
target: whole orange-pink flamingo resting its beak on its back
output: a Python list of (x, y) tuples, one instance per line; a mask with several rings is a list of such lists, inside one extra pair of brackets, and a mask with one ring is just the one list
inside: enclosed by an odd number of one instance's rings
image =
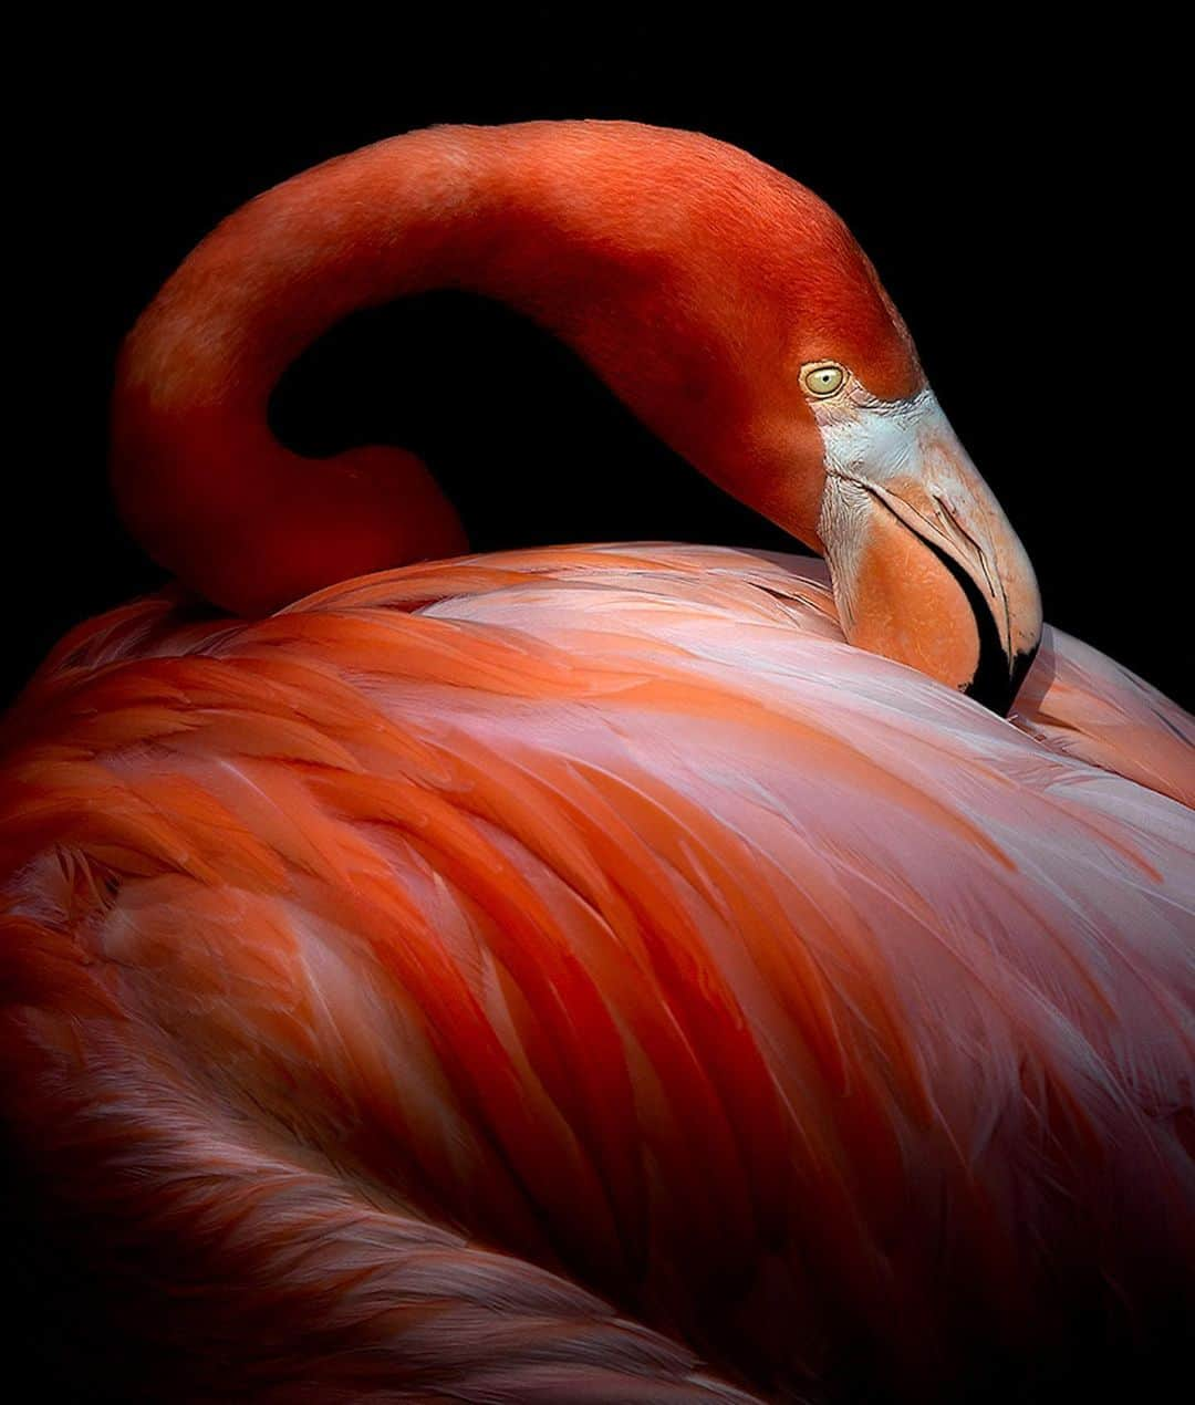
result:
[[(271, 437), (443, 287), (825, 562), (468, 555), (413, 455)], [(974, 1399), (1185, 1324), (1195, 725), (1043, 627), (810, 191), (626, 122), (333, 160), (131, 332), (112, 483), (181, 584), (4, 721), (0, 1059), (118, 1398)]]

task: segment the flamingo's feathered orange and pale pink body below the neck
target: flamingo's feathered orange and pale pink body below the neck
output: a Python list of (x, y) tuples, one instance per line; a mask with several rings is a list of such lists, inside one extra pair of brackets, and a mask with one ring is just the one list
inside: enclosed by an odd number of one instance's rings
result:
[(70, 635), (4, 724), (4, 1096), (145, 1378), (926, 1398), (1173, 1322), (1195, 732), (1054, 631), (1014, 722), (714, 548)]

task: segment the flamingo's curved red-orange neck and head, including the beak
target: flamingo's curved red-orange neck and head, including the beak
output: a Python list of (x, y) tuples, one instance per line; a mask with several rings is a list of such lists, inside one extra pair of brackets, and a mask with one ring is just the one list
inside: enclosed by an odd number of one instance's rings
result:
[(874, 268), (811, 191), (689, 132), (412, 132), (225, 221), (121, 357), (112, 475), (153, 555), (254, 614), (464, 549), (413, 455), (304, 459), (269, 430), (305, 344), (434, 287), (557, 332), (692, 464), (822, 551), (852, 643), (1007, 710), (1042, 631), (1033, 569)]

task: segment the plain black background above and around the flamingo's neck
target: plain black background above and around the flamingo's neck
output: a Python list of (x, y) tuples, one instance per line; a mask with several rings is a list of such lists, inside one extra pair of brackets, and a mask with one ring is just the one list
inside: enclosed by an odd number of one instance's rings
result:
[[(995, 34), (919, 20), (876, 34), (831, 7), (748, 8), (717, 30), (693, 15), (451, 11), (385, 35), (346, 10), (323, 15), (302, 58), (249, 52), (232, 21), (194, 22), (104, 30), (69, 63), (51, 51), (44, 111), (18, 143), (32, 162), (18, 278), (38, 312), (31, 393), (13, 416), (34, 420), (35, 448), (10, 462), (6, 694), (70, 624), (163, 579), (108, 503), (111, 367), (222, 215), (412, 126), (588, 115), (706, 131), (825, 197), (1021, 532), (1047, 620), (1191, 705), (1187, 371), (1163, 351), (1184, 159), (1156, 55), (1090, 24), (1047, 34), (1038, 17), (1032, 32)], [(481, 549), (784, 544), (569, 353), (484, 303), (439, 295), (350, 320), (291, 372), (276, 410), (309, 451), (418, 448)]]

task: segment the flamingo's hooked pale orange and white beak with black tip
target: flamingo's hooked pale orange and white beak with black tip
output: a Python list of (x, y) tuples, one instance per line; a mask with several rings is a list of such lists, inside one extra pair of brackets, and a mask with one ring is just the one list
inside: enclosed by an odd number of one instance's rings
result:
[(817, 405), (818, 535), (846, 638), (1007, 712), (1042, 636), (1033, 568), (929, 389)]

